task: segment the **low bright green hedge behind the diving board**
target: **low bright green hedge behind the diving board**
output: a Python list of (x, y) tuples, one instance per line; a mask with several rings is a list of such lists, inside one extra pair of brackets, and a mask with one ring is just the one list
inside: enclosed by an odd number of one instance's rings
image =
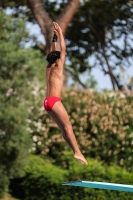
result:
[(20, 200), (132, 200), (133, 193), (62, 186), (73, 180), (133, 184), (133, 174), (117, 166), (105, 167), (88, 160), (89, 165), (71, 161), (69, 170), (57, 168), (39, 156), (32, 156), (25, 177), (11, 181), (10, 190)]

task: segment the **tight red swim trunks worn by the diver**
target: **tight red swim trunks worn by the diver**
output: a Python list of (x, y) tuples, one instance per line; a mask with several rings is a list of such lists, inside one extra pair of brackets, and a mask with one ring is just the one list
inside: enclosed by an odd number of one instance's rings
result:
[(52, 110), (52, 107), (54, 106), (54, 104), (57, 101), (61, 101), (61, 98), (60, 97), (56, 97), (56, 96), (46, 97), (45, 100), (44, 100), (44, 108), (45, 108), (45, 110), (48, 110), (48, 111)]

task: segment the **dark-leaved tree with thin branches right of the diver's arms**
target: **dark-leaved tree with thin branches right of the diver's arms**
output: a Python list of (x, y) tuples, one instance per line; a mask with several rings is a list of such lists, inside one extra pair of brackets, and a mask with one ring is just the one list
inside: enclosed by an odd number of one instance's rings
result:
[(73, 66), (71, 70), (84, 72), (89, 69), (86, 60), (92, 55), (95, 60), (93, 67), (110, 76), (114, 90), (119, 87), (115, 70), (119, 66), (129, 67), (132, 63), (132, 18), (132, 4), (128, 1), (85, 1), (66, 35)]

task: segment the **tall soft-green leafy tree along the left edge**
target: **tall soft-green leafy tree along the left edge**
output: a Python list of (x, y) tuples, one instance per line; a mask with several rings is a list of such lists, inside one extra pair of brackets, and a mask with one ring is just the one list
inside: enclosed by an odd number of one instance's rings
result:
[[(24, 49), (28, 41), (25, 20), (0, 11), (0, 196), (10, 178), (21, 176), (31, 139), (27, 131), (31, 99), (43, 59), (39, 51)], [(37, 59), (36, 59), (37, 57)], [(38, 80), (39, 81), (39, 80)]]

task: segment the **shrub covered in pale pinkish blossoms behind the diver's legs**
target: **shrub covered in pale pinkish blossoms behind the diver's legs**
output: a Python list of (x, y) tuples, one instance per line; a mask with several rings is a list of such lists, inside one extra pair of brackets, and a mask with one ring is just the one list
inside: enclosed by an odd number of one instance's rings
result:
[[(85, 156), (133, 170), (132, 98), (113, 92), (99, 94), (70, 89), (64, 91), (62, 102)], [(29, 127), (34, 139), (33, 152), (48, 155), (53, 163), (62, 163), (63, 167), (69, 168), (64, 155), (70, 149), (55, 122), (43, 109), (39, 118), (29, 121)]]

